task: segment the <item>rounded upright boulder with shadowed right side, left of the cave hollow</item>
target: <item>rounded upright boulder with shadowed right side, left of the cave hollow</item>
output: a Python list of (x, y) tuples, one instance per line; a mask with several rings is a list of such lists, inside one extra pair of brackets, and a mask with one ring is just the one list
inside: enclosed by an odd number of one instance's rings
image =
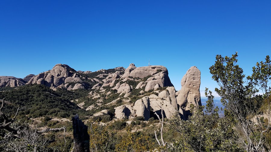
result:
[(151, 106), (148, 96), (138, 99), (133, 107), (137, 116), (142, 116), (145, 120), (149, 120)]

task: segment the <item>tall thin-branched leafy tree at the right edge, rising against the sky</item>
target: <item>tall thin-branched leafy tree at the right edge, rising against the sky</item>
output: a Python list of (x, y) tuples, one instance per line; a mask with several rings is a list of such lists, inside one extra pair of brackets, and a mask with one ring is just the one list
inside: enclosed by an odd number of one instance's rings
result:
[[(257, 62), (252, 68), (253, 74), (245, 80), (242, 68), (237, 65), (237, 56), (237, 53), (232, 57), (216, 56), (215, 64), (210, 67), (213, 80), (220, 86), (215, 90), (227, 111), (238, 120), (235, 129), (240, 136), (240, 145), (246, 151), (270, 150), (266, 143), (266, 133), (270, 132), (270, 58), (266, 56), (265, 62)], [(259, 90), (263, 96), (257, 95)], [(267, 107), (260, 114), (264, 100), (267, 100)]]

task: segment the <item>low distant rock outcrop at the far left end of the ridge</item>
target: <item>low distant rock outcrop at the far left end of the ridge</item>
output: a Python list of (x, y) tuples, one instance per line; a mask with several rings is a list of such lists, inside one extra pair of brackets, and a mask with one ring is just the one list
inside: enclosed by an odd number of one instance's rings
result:
[(0, 87), (19, 87), (25, 85), (27, 82), (21, 78), (0, 76)]

